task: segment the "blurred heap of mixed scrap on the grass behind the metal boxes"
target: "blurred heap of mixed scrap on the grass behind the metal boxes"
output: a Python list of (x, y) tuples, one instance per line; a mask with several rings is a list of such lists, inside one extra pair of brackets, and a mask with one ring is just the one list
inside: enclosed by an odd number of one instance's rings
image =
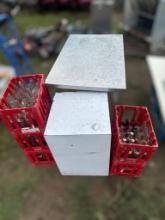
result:
[(85, 34), (87, 28), (81, 23), (70, 24), (65, 18), (49, 27), (31, 28), (25, 32), (23, 44), (30, 55), (43, 59), (58, 54), (69, 34)]

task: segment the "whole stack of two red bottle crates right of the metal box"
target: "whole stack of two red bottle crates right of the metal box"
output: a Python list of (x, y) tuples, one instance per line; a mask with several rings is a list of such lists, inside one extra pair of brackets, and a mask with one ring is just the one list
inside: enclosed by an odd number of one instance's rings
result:
[(158, 148), (146, 107), (114, 109), (110, 175), (139, 176)]

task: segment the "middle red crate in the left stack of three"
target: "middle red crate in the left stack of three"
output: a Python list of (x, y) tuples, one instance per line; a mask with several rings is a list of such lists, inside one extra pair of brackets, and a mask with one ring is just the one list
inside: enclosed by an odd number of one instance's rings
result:
[(42, 133), (33, 132), (28, 134), (21, 134), (15, 136), (16, 141), (19, 146), (24, 151), (40, 151), (40, 150), (49, 150), (49, 147), (46, 143), (46, 140)]

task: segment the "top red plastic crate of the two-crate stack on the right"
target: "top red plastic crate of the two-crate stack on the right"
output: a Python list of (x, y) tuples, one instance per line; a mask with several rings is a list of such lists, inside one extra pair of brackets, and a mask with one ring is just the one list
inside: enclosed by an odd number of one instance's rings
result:
[[(115, 106), (114, 121), (112, 124), (112, 162), (132, 161), (144, 163), (151, 159), (158, 148), (158, 142), (146, 107), (117, 105)], [(149, 141), (140, 144), (123, 142), (121, 137), (123, 124), (126, 124), (124, 126), (128, 126), (128, 128), (133, 125), (144, 126), (145, 131), (148, 131)]]

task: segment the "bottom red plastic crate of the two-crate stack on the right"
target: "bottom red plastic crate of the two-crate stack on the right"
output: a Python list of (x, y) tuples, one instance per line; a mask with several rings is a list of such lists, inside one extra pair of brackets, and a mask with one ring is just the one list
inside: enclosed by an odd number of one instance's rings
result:
[(145, 164), (129, 162), (112, 162), (110, 176), (138, 177), (141, 175)]

